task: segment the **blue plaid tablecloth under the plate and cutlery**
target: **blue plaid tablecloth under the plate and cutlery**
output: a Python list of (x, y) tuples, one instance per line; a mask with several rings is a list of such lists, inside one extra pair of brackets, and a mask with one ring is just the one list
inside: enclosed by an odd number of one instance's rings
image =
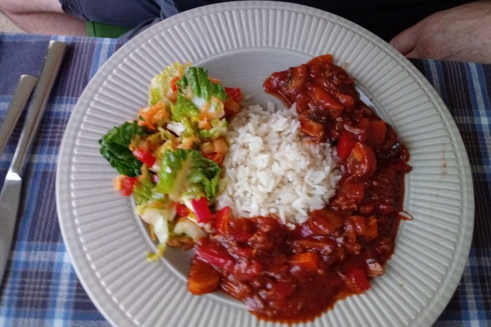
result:
[[(19, 76), (38, 76), (50, 39), (70, 47), (25, 172), (18, 227), (0, 288), (0, 326), (109, 326), (80, 285), (65, 250), (56, 213), (55, 173), (63, 130), (78, 97), (123, 42), (0, 34), (0, 119)], [(471, 160), (476, 199), (470, 256), (435, 326), (491, 326), (491, 65), (412, 62), (436, 88), (457, 123)], [(17, 127), (0, 157), (0, 180), (19, 134)]]

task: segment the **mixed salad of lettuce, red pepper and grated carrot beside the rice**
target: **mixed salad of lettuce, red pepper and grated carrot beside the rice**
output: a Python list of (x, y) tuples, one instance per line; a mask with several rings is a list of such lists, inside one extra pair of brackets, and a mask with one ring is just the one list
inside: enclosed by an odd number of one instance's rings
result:
[(110, 129), (100, 152), (115, 168), (115, 189), (133, 196), (137, 214), (158, 241), (190, 248), (212, 230), (213, 203), (229, 145), (227, 119), (238, 112), (239, 88), (226, 88), (205, 68), (174, 62), (152, 78), (148, 106)]

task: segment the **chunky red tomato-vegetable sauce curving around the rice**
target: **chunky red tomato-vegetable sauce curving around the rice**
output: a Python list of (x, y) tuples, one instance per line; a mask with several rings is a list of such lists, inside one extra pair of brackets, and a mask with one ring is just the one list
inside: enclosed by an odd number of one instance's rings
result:
[(404, 218), (409, 153), (359, 99), (353, 81), (323, 55), (264, 82), (288, 106), (296, 103), (305, 137), (337, 145), (346, 173), (330, 203), (295, 230), (277, 217), (217, 213), (215, 233), (196, 246), (193, 294), (221, 288), (260, 318), (298, 322), (368, 290), (384, 273)]

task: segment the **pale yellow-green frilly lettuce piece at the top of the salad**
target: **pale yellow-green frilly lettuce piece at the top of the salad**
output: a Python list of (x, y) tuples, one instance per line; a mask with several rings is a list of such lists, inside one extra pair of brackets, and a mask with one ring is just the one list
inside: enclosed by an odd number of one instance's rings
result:
[(173, 93), (172, 80), (183, 76), (185, 68), (189, 65), (189, 63), (181, 64), (180, 62), (174, 62), (166, 66), (162, 73), (153, 77), (148, 90), (149, 104), (154, 105), (159, 101), (164, 103), (169, 102), (167, 98)]

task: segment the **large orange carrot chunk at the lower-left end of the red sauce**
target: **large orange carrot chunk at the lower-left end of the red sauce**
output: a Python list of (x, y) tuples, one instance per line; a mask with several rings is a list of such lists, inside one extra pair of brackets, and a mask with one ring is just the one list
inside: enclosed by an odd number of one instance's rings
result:
[(193, 260), (188, 275), (188, 291), (199, 295), (213, 292), (220, 284), (220, 273), (201, 260)]

